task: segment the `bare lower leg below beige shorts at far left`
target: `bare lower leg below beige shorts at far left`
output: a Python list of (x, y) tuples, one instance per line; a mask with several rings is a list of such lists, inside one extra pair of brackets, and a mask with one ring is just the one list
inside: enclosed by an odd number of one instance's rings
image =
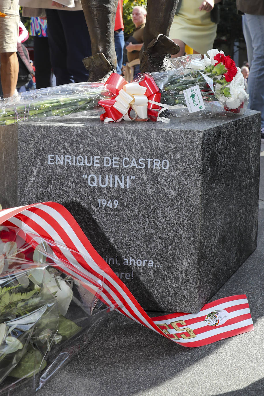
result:
[(19, 64), (16, 52), (2, 52), (0, 53), (1, 63), (1, 84), (4, 98), (12, 96), (15, 93), (17, 86), (17, 77)]

